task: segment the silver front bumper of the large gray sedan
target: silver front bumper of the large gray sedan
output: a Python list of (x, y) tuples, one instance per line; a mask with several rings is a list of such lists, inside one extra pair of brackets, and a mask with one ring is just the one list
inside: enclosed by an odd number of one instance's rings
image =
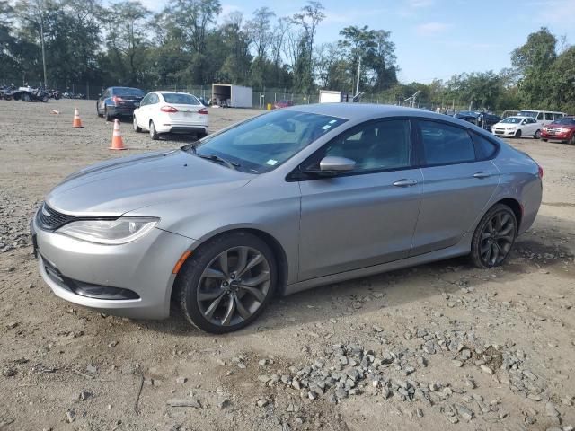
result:
[[(135, 319), (169, 316), (172, 270), (190, 247), (189, 238), (155, 228), (134, 242), (102, 245), (43, 231), (35, 220), (31, 230), (40, 275), (60, 298)], [(122, 299), (103, 299), (106, 295), (94, 292), (116, 293), (108, 297)]]

